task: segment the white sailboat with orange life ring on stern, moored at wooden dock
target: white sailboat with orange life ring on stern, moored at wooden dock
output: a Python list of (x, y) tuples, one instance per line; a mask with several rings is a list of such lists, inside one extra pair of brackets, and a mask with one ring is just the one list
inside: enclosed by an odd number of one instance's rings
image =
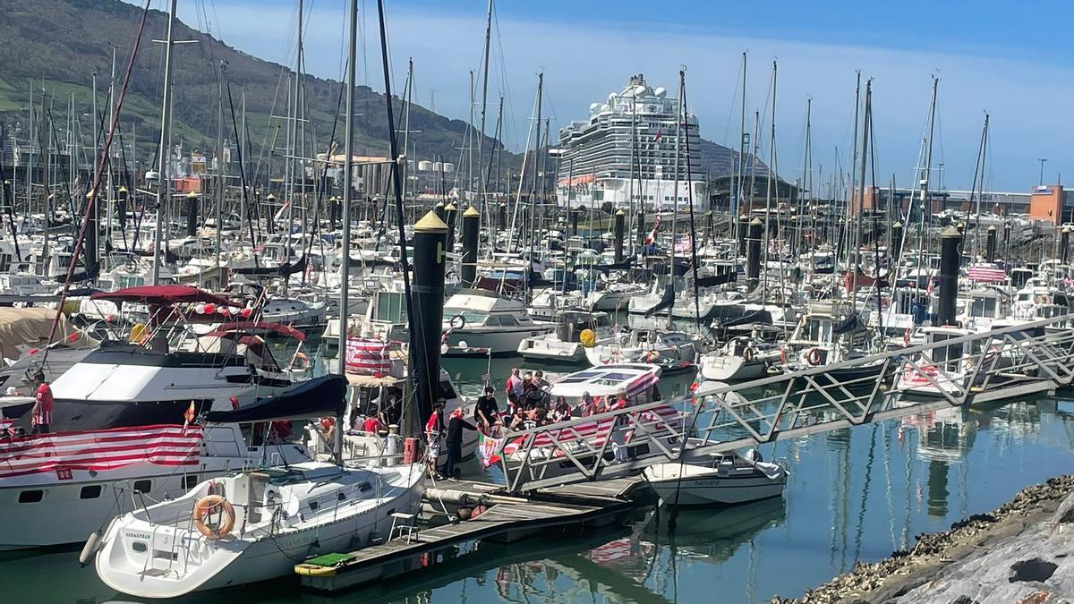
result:
[[(310, 398), (302, 388), (207, 419), (342, 416), (346, 380), (333, 375), (309, 384), (321, 380), (333, 387), (331, 396)], [(378, 543), (392, 514), (417, 510), (424, 476), (423, 464), (382, 461), (307, 461), (204, 480), (183, 497), (114, 519), (100, 540), (97, 574), (122, 593), (176, 598), (288, 576), (296, 560)]]

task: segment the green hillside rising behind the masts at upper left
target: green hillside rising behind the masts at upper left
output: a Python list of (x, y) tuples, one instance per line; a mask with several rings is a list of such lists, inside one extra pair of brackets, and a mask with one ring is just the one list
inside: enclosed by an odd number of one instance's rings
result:
[[(92, 124), (92, 78), (97, 74), (98, 109), (107, 106), (108, 80), (112, 69), (112, 46), (116, 53), (117, 88), (122, 84), (130, 47), (137, 32), (142, 9), (118, 0), (2, 0), (0, 2), (0, 121), (9, 128), (27, 127), (29, 97), (40, 103), (42, 89), (52, 97), (52, 117), (60, 138), (64, 136), (72, 95), (83, 141), (88, 144)], [(163, 80), (163, 44), (154, 43), (165, 37), (168, 15), (150, 11), (124, 104), (121, 128), (125, 136), (133, 133), (139, 150), (151, 153), (160, 138), (160, 99)], [(261, 147), (272, 141), (278, 129), (277, 147), (286, 140), (286, 121), (270, 115), (287, 114), (287, 78), (293, 72), (278, 63), (261, 60), (228, 46), (224, 42), (200, 33), (176, 21), (175, 40), (198, 40), (198, 44), (176, 45), (173, 51), (174, 117), (173, 135), (186, 143), (186, 148), (215, 147), (218, 123), (217, 69), (227, 66), (231, 82), (236, 118), (240, 97), (245, 91), (247, 130), (255, 158)], [(333, 116), (342, 86), (338, 82), (304, 76), (317, 149), (324, 150), (332, 132)], [(357, 88), (355, 153), (387, 155), (387, 110), (383, 95), (361, 86)], [(275, 99), (275, 109), (273, 102)], [(400, 103), (396, 103), (396, 107)], [(224, 101), (224, 112), (228, 112)], [(466, 124), (430, 112), (417, 103), (410, 111), (410, 127), (421, 130), (413, 134), (422, 156), (442, 155), (446, 161), (456, 161), (463, 144)], [(342, 141), (342, 120), (336, 140)], [(132, 132), (133, 130), (133, 132)], [(224, 135), (231, 136), (230, 117)], [(76, 131), (77, 132), (77, 131)], [(23, 138), (26, 131), (23, 130)], [(492, 139), (484, 148), (494, 148)], [(147, 159), (140, 156), (140, 160)]]

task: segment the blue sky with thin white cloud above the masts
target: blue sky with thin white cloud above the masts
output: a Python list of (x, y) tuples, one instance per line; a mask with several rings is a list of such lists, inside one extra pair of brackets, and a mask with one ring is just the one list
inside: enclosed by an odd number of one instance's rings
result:
[[(307, 68), (338, 77), (343, 0), (306, 0)], [(163, 9), (161, 0), (154, 6)], [(180, 17), (198, 26), (205, 5), (214, 34), (259, 57), (292, 63), (296, 0), (180, 0)], [(376, 2), (363, 0), (369, 39), (360, 78), (382, 89)], [(416, 66), (415, 99), (452, 117), (468, 113), (468, 72), (477, 70), (485, 1), (388, 1), (393, 89), (405, 64)], [(555, 131), (584, 118), (587, 105), (621, 88), (634, 73), (674, 89), (686, 67), (690, 109), (701, 134), (734, 145), (738, 138), (741, 53), (748, 52), (746, 110), (768, 113), (771, 63), (779, 61), (777, 158), (785, 178), (801, 175), (807, 98), (813, 101), (814, 179), (821, 190), (837, 162), (848, 167), (854, 128), (855, 70), (873, 78), (876, 178), (892, 173), (909, 185), (918, 162), (933, 74), (941, 78), (933, 168), (944, 184), (967, 188), (984, 111), (991, 115), (987, 186), (1026, 190), (1036, 184), (1037, 158), (1048, 158), (1045, 181), (1074, 179), (1066, 142), (1074, 98), (1074, 66), (1063, 2), (720, 2), (503, 0), (489, 85), (492, 123), (504, 95), (509, 145), (526, 136), (536, 74), (545, 71), (545, 115)], [(752, 119), (751, 119), (752, 121)], [(760, 155), (769, 150), (767, 129)], [(752, 129), (752, 125), (748, 126)], [(838, 149), (838, 155), (837, 155)], [(419, 149), (420, 153), (420, 149)], [(823, 174), (821, 171), (823, 170)], [(938, 170), (939, 172), (939, 170)], [(933, 185), (937, 184), (934, 176)]]

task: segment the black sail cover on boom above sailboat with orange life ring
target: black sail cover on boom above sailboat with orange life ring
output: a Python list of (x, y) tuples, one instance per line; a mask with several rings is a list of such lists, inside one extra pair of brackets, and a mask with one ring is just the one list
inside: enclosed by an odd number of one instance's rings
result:
[(205, 420), (227, 423), (337, 416), (344, 413), (346, 397), (347, 378), (342, 375), (324, 375), (234, 411), (209, 412)]

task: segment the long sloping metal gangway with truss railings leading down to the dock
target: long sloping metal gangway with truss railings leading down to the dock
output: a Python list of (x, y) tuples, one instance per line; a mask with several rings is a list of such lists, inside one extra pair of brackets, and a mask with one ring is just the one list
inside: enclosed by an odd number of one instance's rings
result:
[(1068, 314), (512, 432), (498, 463), (508, 491), (531, 491), (1072, 383)]

